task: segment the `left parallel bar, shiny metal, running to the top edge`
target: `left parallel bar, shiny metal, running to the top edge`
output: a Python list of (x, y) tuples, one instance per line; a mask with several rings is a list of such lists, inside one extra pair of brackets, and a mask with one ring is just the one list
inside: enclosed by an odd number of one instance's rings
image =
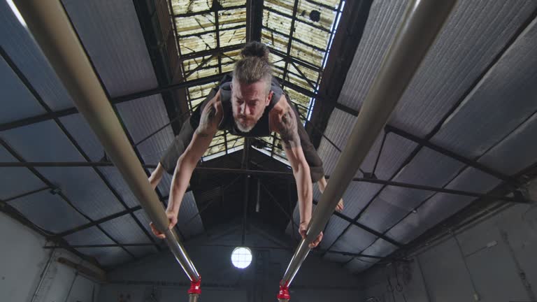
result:
[(166, 230), (166, 241), (185, 273), (190, 280), (199, 280), (199, 273), (178, 241), (176, 231), (168, 229), (169, 220), (162, 203), (151, 188), (61, 3), (15, 0), (15, 4), (45, 57), (71, 94), (71, 99), (87, 119), (150, 219), (157, 229)]

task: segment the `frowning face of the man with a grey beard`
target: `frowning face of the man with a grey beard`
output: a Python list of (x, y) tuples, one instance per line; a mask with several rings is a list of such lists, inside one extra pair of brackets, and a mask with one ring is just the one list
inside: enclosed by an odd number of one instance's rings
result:
[(237, 128), (249, 132), (263, 115), (265, 107), (271, 103), (273, 92), (266, 94), (267, 82), (259, 80), (252, 84), (231, 83), (231, 106)]

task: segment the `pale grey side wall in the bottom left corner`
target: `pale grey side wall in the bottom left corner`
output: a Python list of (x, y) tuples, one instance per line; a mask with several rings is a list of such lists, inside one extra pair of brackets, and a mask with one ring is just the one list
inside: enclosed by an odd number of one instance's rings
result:
[[(0, 242), (0, 300), (31, 301), (52, 250), (43, 249), (43, 236), (3, 213), (0, 213)], [(58, 257), (90, 266), (70, 252), (55, 251), (34, 301), (93, 302), (92, 297), (97, 301), (99, 285), (76, 275), (73, 268), (59, 264)]]

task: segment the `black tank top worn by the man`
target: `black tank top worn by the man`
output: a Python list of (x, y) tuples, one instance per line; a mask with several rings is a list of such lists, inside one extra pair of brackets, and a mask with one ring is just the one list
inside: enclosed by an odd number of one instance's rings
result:
[(259, 137), (270, 136), (271, 129), (268, 124), (268, 113), (274, 108), (274, 105), (278, 103), (280, 97), (283, 94), (283, 90), (278, 80), (274, 77), (271, 82), (271, 91), (273, 92), (271, 102), (266, 106), (263, 115), (259, 118), (254, 128), (249, 132), (243, 132), (237, 128), (235, 120), (233, 118), (233, 109), (231, 108), (231, 75), (225, 75), (220, 82), (220, 101), (222, 101), (222, 121), (218, 125), (219, 130), (227, 130), (230, 134), (235, 136), (245, 137)]

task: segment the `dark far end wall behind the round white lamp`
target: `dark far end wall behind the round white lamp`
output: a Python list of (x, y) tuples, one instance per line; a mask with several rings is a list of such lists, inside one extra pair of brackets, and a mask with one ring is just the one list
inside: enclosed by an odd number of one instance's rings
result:
[[(228, 228), (222, 228), (228, 229)], [(285, 245), (261, 229), (250, 228), (247, 246), (275, 247)], [(233, 247), (199, 245), (240, 245), (241, 229), (212, 233), (185, 244), (201, 274), (201, 301), (276, 301), (278, 284), (292, 256), (286, 250), (254, 250), (255, 260), (243, 271), (231, 264)], [(127, 264), (108, 273), (110, 284), (103, 285), (99, 301), (118, 301), (129, 296), (129, 302), (187, 301), (187, 278), (171, 254), (163, 252)], [(310, 255), (292, 285), (292, 301), (360, 301), (357, 279), (337, 264)]]

